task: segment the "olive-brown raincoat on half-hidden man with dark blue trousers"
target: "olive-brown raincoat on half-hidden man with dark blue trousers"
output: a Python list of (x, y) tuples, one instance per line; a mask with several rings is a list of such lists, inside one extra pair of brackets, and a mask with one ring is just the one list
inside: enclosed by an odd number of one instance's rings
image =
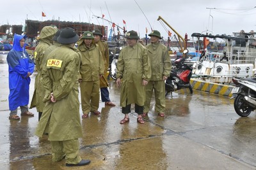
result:
[(101, 87), (108, 87), (108, 81), (107, 81), (107, 77), (108, 77), (108, 67), (109, 67), (109, 52), (108, 52), (108, 44), (105, 41), (99, 41), (98, 43), (96, 43), (99, 48), (100, 48), (100, 52), (104, 61), (104, 75), (102, 76), (102, 78), (100, 78), (100, 88)]

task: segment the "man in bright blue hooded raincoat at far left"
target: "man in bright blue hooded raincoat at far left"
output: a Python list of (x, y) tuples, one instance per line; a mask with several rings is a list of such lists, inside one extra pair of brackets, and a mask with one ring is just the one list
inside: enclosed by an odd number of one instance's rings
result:
[(22, 116), (31, 116), (34, 114), (28, 111), (29, 102), (29, 83), (31, 74), (34, 71), (35, 64), (29, 58), (25, 50), (26, 35), (14, 35), (13, 48), (7, 55), (9, 66), (9, 108), (10, 119), (19, 120), (17, 108), (20, 106)]

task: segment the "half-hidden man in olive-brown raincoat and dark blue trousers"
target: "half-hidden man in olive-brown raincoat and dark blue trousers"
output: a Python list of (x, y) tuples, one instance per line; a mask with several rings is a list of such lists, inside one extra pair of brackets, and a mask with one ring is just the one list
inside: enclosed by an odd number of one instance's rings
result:
[(108, 67), (109, 67), (109, 51), (108, 51), (108, 44), (101, 40), (102, 33), (99, 31), (99, 29), (95, 29), (92, 31), (94, 40), (96, 45), (99, 46), (100, 52), (102, 54), (102, 58), (104, 61), (104, 74), (100, 78), (100, 96), (101, 101), (105, 103), (106, 106), (116, 106), (115, 103), (111, 102), (109, 99), (109, 91), (108, 91)]

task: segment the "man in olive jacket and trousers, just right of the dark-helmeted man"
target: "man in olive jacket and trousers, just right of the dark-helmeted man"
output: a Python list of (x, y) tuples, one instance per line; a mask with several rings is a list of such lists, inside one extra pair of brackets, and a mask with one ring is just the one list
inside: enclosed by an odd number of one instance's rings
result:
[(100, 101), (100, 77), (104, 74), (104, 62), (99, 49), (95, 45), (92, 32), (85, 31), (78, 42), (78, 50), (81, 52), (81, 66), (79, 78), (81, 88), (81, 103), (83, 116), (87, 118), (91, 112), (99, 115)]

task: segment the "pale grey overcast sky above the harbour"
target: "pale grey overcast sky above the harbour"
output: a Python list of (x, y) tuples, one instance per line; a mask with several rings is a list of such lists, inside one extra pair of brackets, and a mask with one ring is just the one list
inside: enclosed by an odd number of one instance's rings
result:
[[(188, 38), (191, 38), (193, 32), (206, 30), (227, 35), (241, 29), (256, 31), (255, 6), (255, 0), (10, 0), (1, 5), (0, 25), (23, 25), (27, 17), (29, 20), (60, 18), (61, 21), (107, 25), (110, 29), (111, 24), (93, 17), (104, 14), (105, 19), (120, 27), (124, 27), (125, 20), (127, 30), (138, 31), (140, 37), (145, 37), (146, 27), (150, 33), (151, 25), (167, 38), (168, 32), (164, 27), (172, 34), (174, 32), (157, 21), (161, 16), (181, 36), (188, 33)], [(42, 17), (42, 11), (46, 17)]]

